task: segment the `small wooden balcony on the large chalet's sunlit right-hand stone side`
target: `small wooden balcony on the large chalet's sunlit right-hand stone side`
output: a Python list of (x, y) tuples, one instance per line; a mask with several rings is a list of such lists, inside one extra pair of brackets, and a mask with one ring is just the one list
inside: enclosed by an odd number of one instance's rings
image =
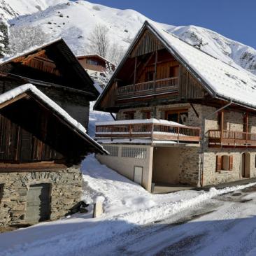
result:
[(209, 147), (248, 147), (256, 148), (256, 134), (243, 131), (208, 131)]

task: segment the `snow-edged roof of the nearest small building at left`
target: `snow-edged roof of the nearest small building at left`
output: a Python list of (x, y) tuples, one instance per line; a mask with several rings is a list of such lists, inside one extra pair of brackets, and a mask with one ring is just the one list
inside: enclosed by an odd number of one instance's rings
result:
[(0, 104), (3, 104), (6, 101), (9, 101), (10, 99), (14, 99), (15, 97), (19, 96), (20, 94), (23, 94), (24, 92), (31, 92), (32, 94), (36, 95), (39, 99), (41, 99), (45, 105), (47, 105), (49, 108), (54, 110), (58, 115), (69, 123), (74, 129), (80, 132), (81, 135), (86, 139), (86, 141), (89, 141), (94, 147), (96, 147), (100, 152), (104, 152), (108, 154), (108, 151), (104, 150), (104, 148), (94, 141), (87, 133), (85, 127), (80, 124), (80, 122), (76, 121), (75, 119), (71, 118), (69, 113), (64, 111), (63, 108), (61, 108), (59, 105), (55, 103), (55, 101), (52, 101), (48, 96), (43, 94), (40, 90), (38, 90), (34, 85), (32, 84), (25, 84), (20, 85), (19, 87), (15, 87), (13, 90), (10, 90), (8, 92), (5, 92), (3, 94), (0, 94)]

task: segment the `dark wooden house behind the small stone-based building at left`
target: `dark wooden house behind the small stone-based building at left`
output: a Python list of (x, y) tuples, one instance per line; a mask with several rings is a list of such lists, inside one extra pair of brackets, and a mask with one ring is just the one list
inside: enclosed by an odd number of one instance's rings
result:
[(24, 83), (36, 85), (87, 128), (90, 101), (99, 92), (62, 39), (0, 59), (0, 94)]

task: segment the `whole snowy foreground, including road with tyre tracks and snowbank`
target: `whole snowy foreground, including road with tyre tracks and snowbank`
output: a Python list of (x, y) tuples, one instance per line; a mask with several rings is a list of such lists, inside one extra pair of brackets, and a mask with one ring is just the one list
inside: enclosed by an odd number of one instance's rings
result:
[(104, 197), (104, 215), (78, 213), (0, 234), (0, 256), (256, 255), (256, 183), (150, 194), (99, 164), (83, 163), (85, 201)]

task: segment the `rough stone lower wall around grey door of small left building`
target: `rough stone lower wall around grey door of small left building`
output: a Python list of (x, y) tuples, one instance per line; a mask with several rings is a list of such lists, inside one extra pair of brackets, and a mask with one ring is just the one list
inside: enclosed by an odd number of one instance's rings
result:
[(50, 220), (69, 213), (82, 194), (82, 174), (79, 168), (62, 171), (29, 171), (0, 173), (0, 226), (26, 223), (29, 185), (50, 183)]

